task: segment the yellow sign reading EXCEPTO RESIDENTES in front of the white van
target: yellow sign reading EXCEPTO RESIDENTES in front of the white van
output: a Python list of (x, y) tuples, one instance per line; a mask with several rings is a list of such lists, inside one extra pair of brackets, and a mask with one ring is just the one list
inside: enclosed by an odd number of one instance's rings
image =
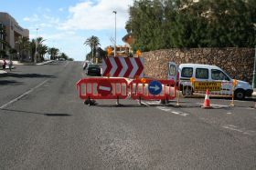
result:
[(220, 91), (221, 82), (195, 82), (194, 83), (195, 91)]

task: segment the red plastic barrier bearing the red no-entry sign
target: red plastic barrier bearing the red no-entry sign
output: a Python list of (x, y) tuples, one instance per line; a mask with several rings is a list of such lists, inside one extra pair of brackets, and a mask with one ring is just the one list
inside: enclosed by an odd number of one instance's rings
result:
[(83, 78), (77, 83), (80, 99), (125, 99), (128, 83), (124, 78)]

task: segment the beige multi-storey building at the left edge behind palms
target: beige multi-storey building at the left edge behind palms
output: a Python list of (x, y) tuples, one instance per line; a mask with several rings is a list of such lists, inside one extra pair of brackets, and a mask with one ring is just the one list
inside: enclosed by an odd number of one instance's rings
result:
[[(0, 33), (0, 38), (16, 50), (18, 50), (16, 41), (19, 36), (29, 38), (29, 30), (18, 25), (15, 18), (8, 13), (0, 12), (0, 26), (5, 29), (5, 35)], [(0, 45), (0, 50), (5, 50), (5, 45)]]

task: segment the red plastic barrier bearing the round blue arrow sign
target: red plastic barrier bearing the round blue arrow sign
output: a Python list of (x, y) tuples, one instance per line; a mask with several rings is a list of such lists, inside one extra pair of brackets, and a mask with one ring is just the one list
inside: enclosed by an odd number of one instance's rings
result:
[(131, 98), (143, 100), (171, 100), (176, 97), (173, 80), (134, 79), (130, 83)]

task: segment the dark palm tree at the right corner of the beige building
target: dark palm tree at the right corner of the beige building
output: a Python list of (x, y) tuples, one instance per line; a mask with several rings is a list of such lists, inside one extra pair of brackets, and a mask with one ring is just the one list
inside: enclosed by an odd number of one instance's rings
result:
[(25, 52), (29, 50), (29, 38), (27, 36), (19, 36), (16, 45), (19, 53), (18, 60), (23, 61), (24, 56), (27, 55)]

